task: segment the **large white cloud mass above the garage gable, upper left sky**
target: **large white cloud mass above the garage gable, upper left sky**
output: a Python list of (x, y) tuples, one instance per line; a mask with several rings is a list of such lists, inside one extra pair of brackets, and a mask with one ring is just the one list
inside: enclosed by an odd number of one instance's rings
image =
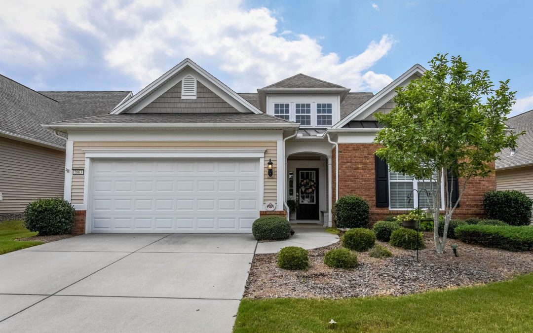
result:
[[(0, 47), (16, 50), (19, 45), (28, 66), (100, 63), (134, 79), (135, 88), (186, 57), (243, 92), (298, 72), (352, 91), (377, 91), (392, 81), (369, 70), (391, 50), (392, 36), (369, 41), (362, 53), (341, 59), (337, 53), (323, 53), (316, 38), (278, 30), (278, 19), (269, 9), (246, 9), (239, 0), (44, 3), (25, 11), (23, 7), (33, 6), (33, 1), (13, 1), (7, 13), (0, 12), (0, 35), (7, 36)], [(15, 14), (18, 18), (7, 18)], [(80, 33), (93, 38), (91, 43), (79, 38)], [(28, 47), (35, 51), (25, 55)], [(0, 61), (10, 59), (0, 55)]]

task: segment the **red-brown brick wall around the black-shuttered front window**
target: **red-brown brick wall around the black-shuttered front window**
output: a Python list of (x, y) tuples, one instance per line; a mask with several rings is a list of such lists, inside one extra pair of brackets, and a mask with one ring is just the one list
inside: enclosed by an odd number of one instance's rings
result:
[[(391, 215), (404, 214), (406, 211), (389, 210), (376, 207), (375, 159), (374, 153), (379, 148), (375, 143), (341, 143), (338, 145), (339, 186), (338, 195), (356, 195), (368, 200), (372, 222), (383, 220)], [(332, 193), (335, 202), (335, 148), (332, 151)], [(494, 165), (492, 166), (494, 168)], [(462, 185), (462, 181), (459, 180)], [(454, 218), (483, 216), (483, 194), (496, 189), (496, 176), (492, 173), (487, 178), (472, 178), (466, 186)]]

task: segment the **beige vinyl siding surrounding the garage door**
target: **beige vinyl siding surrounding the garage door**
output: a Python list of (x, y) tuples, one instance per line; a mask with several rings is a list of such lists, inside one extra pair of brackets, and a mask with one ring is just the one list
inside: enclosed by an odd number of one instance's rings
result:
[[(72, 168), (85, 167), (84, 149), (265, 149), (264, 156), (264, 201), (277, 201), (277, 178), (276, 174), (269, 177), (266, 163), (272, 159), (277, 165), (277, 142), (74, 142), (72, 153)], [(72, 204), (84, 204), (83, 202), (84, 176), (72, 175)]]

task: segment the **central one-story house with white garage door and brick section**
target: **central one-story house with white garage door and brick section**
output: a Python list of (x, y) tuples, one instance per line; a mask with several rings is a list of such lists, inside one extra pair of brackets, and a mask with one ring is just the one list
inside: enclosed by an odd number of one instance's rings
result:
[[(376, 95), (298, 74), (238, 94), (185, 59), (109, 114), (43, 126), (68, 136), (64, 198), (82, 232), (251, 232), (259, 216), (332, 225), (336, 198), (373, 221), (414, 208), (424, 186), (375, 158), (375, 112), (418, 64)], [(467, 187), (457, 217), (483, 213), (494, 176)], [(424, 200), (423, 200), (424, 201)]]

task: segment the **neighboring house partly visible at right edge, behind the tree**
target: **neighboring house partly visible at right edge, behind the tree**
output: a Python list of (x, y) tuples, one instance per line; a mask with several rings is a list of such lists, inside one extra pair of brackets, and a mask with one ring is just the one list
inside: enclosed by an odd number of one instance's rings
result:
[(507, 126), (518, 137), (514, 150), (500, 152), (496, 161), (496, 187), (498, 190), (518, 190), (533, 199), (533, 110), (507, 120)]

